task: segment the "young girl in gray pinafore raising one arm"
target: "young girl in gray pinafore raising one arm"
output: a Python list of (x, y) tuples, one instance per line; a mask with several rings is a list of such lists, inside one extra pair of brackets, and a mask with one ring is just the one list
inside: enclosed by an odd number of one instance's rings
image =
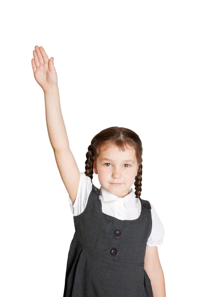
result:
[[(61, 114), (53, 59), (42, 47), (35, 49), (34, 77), (44, 91), (49, 140), (74, 215), (63, 297), (165, 297), (157, 252), (164, 230), (153, 205), (140, 198), (139, 136), (122, 127), (99, 132), (88, 147), (85, 172), (79, 172)], [(92, 183), (94, 172), (99, 189)]]

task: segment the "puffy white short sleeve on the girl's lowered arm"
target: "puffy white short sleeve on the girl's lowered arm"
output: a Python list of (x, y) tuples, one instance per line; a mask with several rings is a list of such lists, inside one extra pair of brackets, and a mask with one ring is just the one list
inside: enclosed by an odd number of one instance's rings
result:
[(157, 215), (157, 212), (153, 205), (151, 205), (151, 217), (152, 217), (152, 230), (150, 236), (148, 237), (147, 246), (159, 247), (163, 243), (164, 239), (164, 228), (162, 222)]

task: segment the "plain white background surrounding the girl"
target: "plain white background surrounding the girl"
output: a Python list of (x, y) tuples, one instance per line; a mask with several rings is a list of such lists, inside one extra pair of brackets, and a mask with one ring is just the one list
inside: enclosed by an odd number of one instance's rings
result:
[[(81, 172), (99, 131), (119, 126), (140, 136), (141, 198), (165, 231), (158, 253), (166, 296), (198, 296), (197, 15), (190, 0), (1, 5), (1, 297), (62, 297), (75, 230), (34, 79), (35, 46), (54, 57)], [(100, 186), (95, 174), (93, 183)]]

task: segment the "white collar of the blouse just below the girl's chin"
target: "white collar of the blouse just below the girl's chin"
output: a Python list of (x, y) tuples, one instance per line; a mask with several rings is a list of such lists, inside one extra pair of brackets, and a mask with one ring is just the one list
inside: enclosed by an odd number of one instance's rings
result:
[(108, 192), (107, 190), (105, 190), (102, 187), (100, 187), (100, 193), (101, 193), (100, 200), (107, 202), (107, 203), (114, 202), (117, 199), (122, 199), (122, 201), (124, 202), (124, 205), (127, 209), (134, 208), (135, 204), (139, 200), (139, 198), (136, 198), (135, 192), (132, 188), (129, 188), (129, 194), (127, 194), (123, 198), (118, 197), (114, 194), (111, 194), (110, 192)]

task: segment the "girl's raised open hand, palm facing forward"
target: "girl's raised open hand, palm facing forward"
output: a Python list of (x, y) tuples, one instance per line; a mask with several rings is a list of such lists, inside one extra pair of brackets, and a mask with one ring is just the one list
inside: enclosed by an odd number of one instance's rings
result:
[(53, 58), (48, 58), (47, 53), (42, 47), (35, 47), (33, 50), (32, 68), (37, 83), (44, 92), (57, 87), (57, 74), (53, 64)]

